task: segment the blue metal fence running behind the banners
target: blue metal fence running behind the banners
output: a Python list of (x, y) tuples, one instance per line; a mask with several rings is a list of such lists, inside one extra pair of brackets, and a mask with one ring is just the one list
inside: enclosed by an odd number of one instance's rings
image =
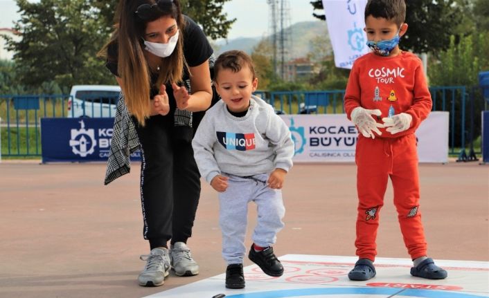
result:
[[(450, 153), (461, 148), (459, 153), (463, 156), (468, 134), (465, 109), (468, 91), (465, 86), (433, 86), (429, 91), (433, 111), (450, 112)], [(274, 106), (276, 113), (344, 113), (344, 90), (256, 91), (254, 94)], [(1, 156), (41, 156), (40, 118), (113, 117), (115, 104), (115, 98), (97, 102), (87, 97), (75, 103), (70, 95), (0, 95)]]

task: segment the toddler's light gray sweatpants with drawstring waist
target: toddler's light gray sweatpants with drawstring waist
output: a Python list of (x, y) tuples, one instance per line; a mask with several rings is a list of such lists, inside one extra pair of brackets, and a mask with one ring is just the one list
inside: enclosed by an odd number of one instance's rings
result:
[(229, 175), (228, 188), (219, 194), (222, 257), (228, 265), (243, 262), (250, 201), (256, 203), (258, 210), (258, 221), (251, 237), (256, 245), (263, 248), (274, 245), (276, 234), (284, 226), (282, 191), (263, 183), (268, 180), (267, 174), (253, 177), (256, 180)]

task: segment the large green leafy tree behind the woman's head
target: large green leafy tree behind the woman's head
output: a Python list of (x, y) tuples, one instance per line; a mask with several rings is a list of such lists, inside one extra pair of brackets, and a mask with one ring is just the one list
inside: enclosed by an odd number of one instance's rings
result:
[[(204, 26), (213, 38), (226, 37), (231, 24), (222, 12), (229, 0), (184, 0), (184, 12)], [(15, 52), (17, 78), (29, 89), (57, 84), (62, 90), (73, 84), (116, 84), (98, 50), (114, 30), (118, 1), (17, 0), (21, 18), (14, 29), (20, 41), (8, 40)], [(188, 10), (188, 12), (186, 11)], [(206, 13), (202, 13), (206, 12)], [(49, 88), (51, 88), (49, 87)]]

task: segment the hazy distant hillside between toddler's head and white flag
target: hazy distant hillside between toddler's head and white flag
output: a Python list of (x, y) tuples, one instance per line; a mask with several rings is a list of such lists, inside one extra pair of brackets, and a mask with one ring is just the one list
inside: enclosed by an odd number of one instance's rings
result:
[[(318, 37), (324, 38), (324, 46), (330, 51), (328, 28), (325, 21), (302, 21), (290, 26), (292, 30), (292, 58), (305, 57), (311, 52), (311, 42)], [(268, 36), (269, 37), (269, 36)], [(244, 50), (251, 53), (254, 46), (262, 38), (268, 37), (247, 37), (231, 39), (229, 41), (216, 41), (214, 44), (215, 53), (219, 55), (226, 50)]]

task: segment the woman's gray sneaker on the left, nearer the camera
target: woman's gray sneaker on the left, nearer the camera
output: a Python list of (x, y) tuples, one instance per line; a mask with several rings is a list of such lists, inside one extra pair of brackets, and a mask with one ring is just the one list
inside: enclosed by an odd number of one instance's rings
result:
[(155, 287), (161, 286), (170, 273), (170, 257), (167, 248), (153, 248), (150, 254), (139, 257), (146, 261), (143, 272), (139, 274), (139, 286)]

